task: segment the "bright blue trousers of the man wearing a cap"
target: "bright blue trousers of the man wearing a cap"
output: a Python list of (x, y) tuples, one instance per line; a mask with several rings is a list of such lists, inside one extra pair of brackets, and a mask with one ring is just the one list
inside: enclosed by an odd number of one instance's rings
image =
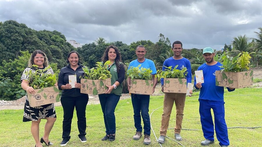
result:
[(215, 131), (219, 145), (229, 145), (227, 126), (225, 121), (225, 107), (223, 101), (210, 101), (199, 99), (199, 113), (205, 139), (214, 141), (214, 124), (211, 108), (214, 112)]

